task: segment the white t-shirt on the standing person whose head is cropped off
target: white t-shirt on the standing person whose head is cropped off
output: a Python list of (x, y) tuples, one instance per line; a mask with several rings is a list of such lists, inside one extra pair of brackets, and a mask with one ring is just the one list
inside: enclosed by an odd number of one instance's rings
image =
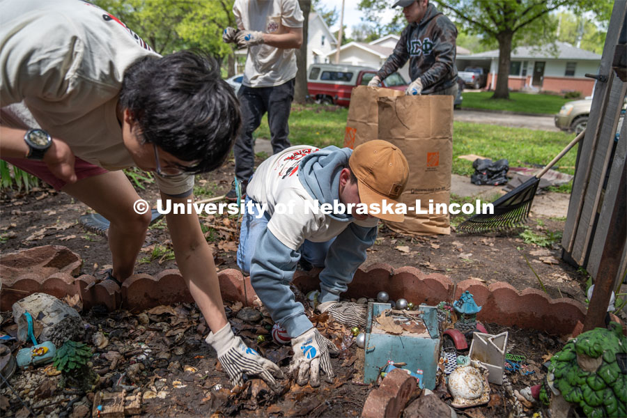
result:
[[(263, 33), (287, 33), (302, 28), (304, 18), (297, 0), (235, 0), (233, 14), (239, 29)], [(242, 84), (249, 87), (279, 86), (296, 77), (296, 50), (270, 45), (248, 48)]]

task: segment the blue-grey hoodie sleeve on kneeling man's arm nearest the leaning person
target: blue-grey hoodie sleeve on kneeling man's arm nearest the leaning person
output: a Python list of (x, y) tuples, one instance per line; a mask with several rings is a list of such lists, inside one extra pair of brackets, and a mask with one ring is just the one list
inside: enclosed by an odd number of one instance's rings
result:
[(270, 230), (261, 233), (250, 266), (250, 281), (272, 320), (291, 337), (299, 336), (314, 325), (296, 302), (290, 289), (300, 253), (286, 247)]

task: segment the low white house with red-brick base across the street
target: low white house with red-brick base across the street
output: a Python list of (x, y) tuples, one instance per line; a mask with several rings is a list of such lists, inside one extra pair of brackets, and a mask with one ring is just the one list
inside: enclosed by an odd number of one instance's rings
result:
[[(536, 88), (543, 91), (580, 91), (591, 95), (594, 79), (586, 73), (596, 74), (601, 64), (601, 55), (573, 47), (566, 42), (543, 47), (518, 47), (511, 52), (508, 86), (511, 90)], [(486, 88), (496, 86), (499, 65), (499, 50), (458, 56), (457, 68), (481, 67), (488, 70)]]

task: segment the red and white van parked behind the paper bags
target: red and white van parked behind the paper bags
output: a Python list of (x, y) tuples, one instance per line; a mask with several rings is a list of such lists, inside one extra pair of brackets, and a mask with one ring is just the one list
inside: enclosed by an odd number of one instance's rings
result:
[[(353, 88), (366, 86), (376, 73), (375, 68), (358, 65), (311, 64), (307, 72), (309, 97), (316, 103), (348, 107)], [(408, 84), (398, 72), (394, 72), (383, 80), (382, 86), (405, 91)]]

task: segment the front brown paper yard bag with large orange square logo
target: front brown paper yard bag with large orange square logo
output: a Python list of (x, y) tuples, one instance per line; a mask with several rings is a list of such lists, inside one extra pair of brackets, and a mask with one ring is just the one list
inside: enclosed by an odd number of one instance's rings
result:
[[(351, 100), (352, 102), (353, 100)], [(410, 176), (398, 199), (408, 208), (404, 222), (387, 222), (408, 234), (450, 234), (448, 211), (428, 212), (430, 200), (449, 205), (453, 164), (453, 96), (419, 95), (378, 99), (378, 139), (398, 146)], [(420, 207), (417, 205), (420, 200)]]

